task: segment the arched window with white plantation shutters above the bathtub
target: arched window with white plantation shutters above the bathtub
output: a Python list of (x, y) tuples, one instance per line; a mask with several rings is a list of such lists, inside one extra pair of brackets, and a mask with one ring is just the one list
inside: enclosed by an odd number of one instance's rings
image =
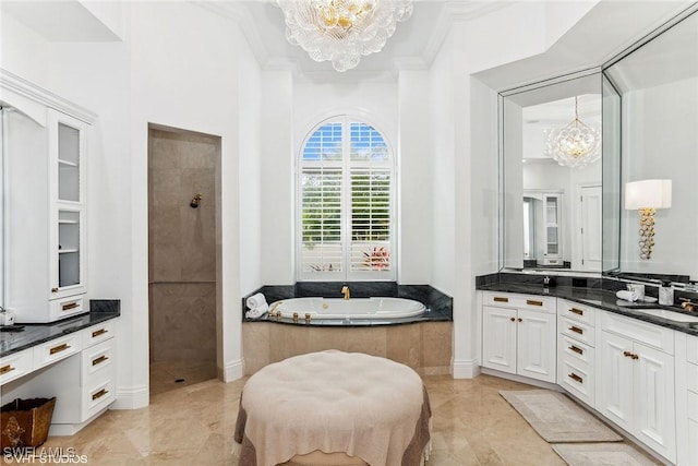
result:
[(322, 122), (299, 160), (298, 279), (395, 279), (395, 164), (383, 135)]

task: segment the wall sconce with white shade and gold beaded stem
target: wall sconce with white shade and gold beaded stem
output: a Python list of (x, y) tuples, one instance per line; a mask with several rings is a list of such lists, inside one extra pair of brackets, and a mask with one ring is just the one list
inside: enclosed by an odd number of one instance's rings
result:
[(640, 211), (640, 259), (652, 256), (654, 213), (672, 206), (672, 180), (641, 180), (625, 183), (625, 208)]

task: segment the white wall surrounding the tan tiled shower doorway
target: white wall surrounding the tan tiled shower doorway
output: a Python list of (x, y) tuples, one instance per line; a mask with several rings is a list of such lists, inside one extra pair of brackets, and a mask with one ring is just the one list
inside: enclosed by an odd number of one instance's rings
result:
[(139, 407), (148, 403), (148, 123), (222, 138), (219, 371), (242, 377), (240, 287), (261, 273), (241, 279), (240, 241), (250, 244), (249, 271), (260, 262), (262, 214), (260, 138), (239, 132), (257, 134), (260, 80), (230, 20), (189, 2), (123, 7), (116, 43), (48, 43), (3, 15), (2, 67), (98, 115), (87, 163), (88, 296), (121, 299), (117, 406)]

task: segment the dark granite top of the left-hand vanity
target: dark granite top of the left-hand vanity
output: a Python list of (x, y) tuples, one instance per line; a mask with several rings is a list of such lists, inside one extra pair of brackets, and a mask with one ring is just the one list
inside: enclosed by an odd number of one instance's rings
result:
[(97, 325), (121, 315), (119, 300), (91, 300), (91, 311), (86, 314), (68, 318), (47, 324), (17, 324), (24, 328), (19, 332), (0, 332), (0, 357), (39, 345), (60, 336)]

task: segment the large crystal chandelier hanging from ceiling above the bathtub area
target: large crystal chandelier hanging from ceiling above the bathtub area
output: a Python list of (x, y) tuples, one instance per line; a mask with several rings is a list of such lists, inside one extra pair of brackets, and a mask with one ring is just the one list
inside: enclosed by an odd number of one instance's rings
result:
[(412, 14), (412, 0), (276, 0), (286, 19), (286, 38), (315, 61), (337, 71), (378, 52), (398, 21)]

